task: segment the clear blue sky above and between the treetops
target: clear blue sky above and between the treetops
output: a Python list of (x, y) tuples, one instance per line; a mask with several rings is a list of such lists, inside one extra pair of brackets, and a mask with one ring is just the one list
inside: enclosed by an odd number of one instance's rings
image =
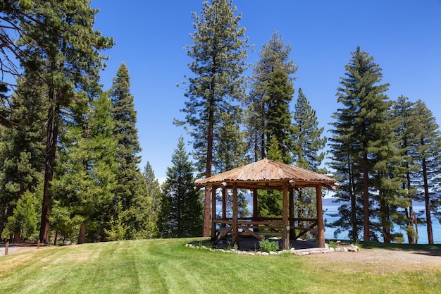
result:
[[(344, 66), (357, 46), (383, 68), (390, 99), (401, 94), (411, 101), (421, 99), (441, 123), (441, 0), (233, 0), (233, 4), (242, 13), (240, 25), (246, 27), (249, 44), (255, 46), (249, 51), (249, 63), (258, 59), (274, 30), (292, 45), (291, 58), (299, 68), (292, 106), (302, 87), (325, 130), (338, 107), (335, 93)], [(163, 180), (178, 137), (191, 139), (173, 125), (173, 118), (182, 118), (185, 88), (176, 85), (191, 74), (184, 47), (192, 44), (191, 13), (200, 14), (202, 1), (92, 0), (92, 7), (100, 8), (95, 28), (116, 42), (103, 52), (110, 59), (101, 82), (108, 89), (120, 63), (128, 66), (141, 167), (149, 161)], [(187, 151), (191, 148), (187, 145)]]

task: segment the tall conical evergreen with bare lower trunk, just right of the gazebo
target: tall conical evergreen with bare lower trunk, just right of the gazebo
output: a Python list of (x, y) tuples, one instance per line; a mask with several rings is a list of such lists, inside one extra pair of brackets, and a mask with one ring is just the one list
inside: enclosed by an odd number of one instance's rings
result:
[[(372, 56), (361, 51), (360, 47), (352, 52), (352, 59), (345, 66), (346, 73), (337, 88), (337, 102), (343, 109), (335, 113), (337, 122), (334, 126), (338, 133), (345, 133), (347, 144), (352, 149), (351, 158), (359, 163), (359, 172), (363, 177), (363, 228), (364, 240), (371, 238), (370, 233), (370, 188), (369, 180), (377, 155), (382, 152), (387, 142), (383, 125), (388, 119), (390, 101), (383, 94), (388, 84), (379, 84), (383, 78), (381, 68), (373, 61)], [(344, 130), (340, 130), (344, 128)], [(335, 141), (335, 137), (332, 139)], [(337, 139), (337, 142), (339, 140)], [(385, 147), (388, 148), (388, 147)], [(333, 152), (339, 152), (338, 150)]]

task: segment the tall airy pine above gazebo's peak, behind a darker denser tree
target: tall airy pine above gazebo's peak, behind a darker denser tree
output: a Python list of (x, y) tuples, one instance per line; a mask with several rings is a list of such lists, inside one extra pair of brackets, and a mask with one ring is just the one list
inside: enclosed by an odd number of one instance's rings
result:
[[(293, 85), (294, 83), (292, 75), (297, 71), (297, 66), (290, 59), (291, 49), (292, 46), (286, 44), (282, 36), (275, 31), (271, 39), (268, 40), (268, 43), (263, 44), (259, 52), (259, 60), (253, 68), (253, 83), (245, 105), (247, 106), (246, 125), (249, 133), (248, 142), (254, 161), (266, 157), (269, 146), (266, 141), (272, 137), (266, 131), (269, 120), (268, 83), (270, 82), (270, 75), (274, 71), (280, 70), (288, 77), (287, 81), (284, 81), (285, 84), (289, 82)], [(293, 94), (294, 90), (288, 89), (288, 92)], [(280, 140), (282, 140), (282, 137), (278, 137), (278, 141)], [(281, 144), (281, 142), (279, 143)]]

